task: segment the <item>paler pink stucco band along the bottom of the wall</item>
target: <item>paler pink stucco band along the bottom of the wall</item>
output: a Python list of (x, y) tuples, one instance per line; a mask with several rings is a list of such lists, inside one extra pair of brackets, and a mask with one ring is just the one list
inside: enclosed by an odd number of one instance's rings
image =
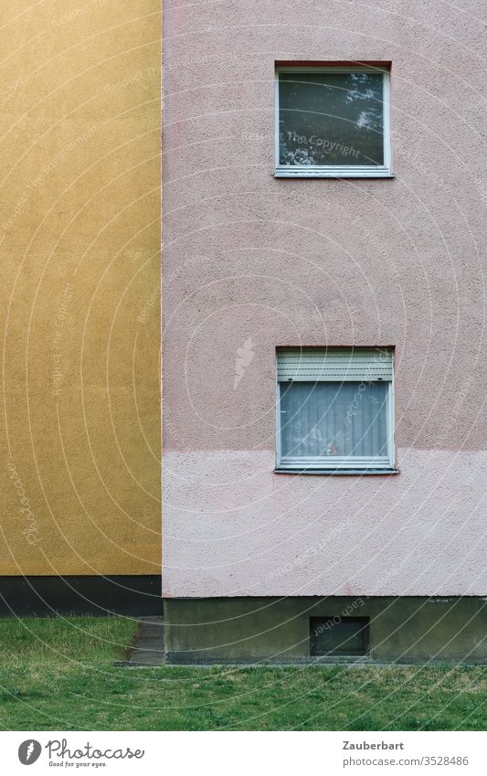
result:
[(487, 590), (487, 453), (398, 459), (400, 475), (360, 478), (274, 474), (270, 452), (168, 454), (165, 594)]

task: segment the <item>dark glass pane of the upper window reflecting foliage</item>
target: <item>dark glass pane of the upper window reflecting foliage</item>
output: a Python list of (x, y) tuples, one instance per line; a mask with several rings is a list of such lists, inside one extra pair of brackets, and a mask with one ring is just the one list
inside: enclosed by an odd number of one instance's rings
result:
[(280, 73), (280, 165), (384, 165), (382, 73)]

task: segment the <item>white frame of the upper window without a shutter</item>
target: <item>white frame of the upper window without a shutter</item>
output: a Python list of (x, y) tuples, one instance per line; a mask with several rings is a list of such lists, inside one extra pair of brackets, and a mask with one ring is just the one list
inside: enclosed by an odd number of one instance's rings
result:
[[(281, 165), (280, 123), (279, 123), (279, 76), (280, 73), (382, 73), (384, 107), (384, 165)], [(278, 178), (392, 178), (391, 130), (390, 130), (390, 71), (388, 68), (357, 67), (280, 67), (275, 77), (275, 171)]]

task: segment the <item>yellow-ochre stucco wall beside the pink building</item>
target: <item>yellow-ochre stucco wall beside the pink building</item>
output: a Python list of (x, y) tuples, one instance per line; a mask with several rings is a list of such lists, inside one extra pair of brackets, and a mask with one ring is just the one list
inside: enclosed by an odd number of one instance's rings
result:
[(0, 574), (157, 574), (160, 0), (0, 8)]

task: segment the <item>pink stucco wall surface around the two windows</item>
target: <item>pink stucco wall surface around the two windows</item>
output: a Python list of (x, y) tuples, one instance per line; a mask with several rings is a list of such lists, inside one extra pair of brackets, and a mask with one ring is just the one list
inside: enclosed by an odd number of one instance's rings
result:
[[(166, 4), (164, 595), (487, 593), (482, 6)], [(273, 177), (283, 59), (392, 61), (395, 179)], [(396, 346), (399, 474), (273, 473), (301, 344)]]

